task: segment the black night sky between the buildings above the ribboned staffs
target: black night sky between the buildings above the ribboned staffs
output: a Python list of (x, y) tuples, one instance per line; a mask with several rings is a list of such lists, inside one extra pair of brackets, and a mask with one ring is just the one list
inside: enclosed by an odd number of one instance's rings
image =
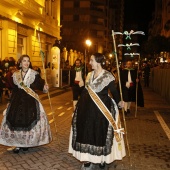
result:
[(148, 33), (148, 24), (152, 18), (155, 0), (125, 0), (125, 20), (124, 29), (132, 28), (133, 24), (138, 24), (136, 31), (144, 31), (146, 36)]

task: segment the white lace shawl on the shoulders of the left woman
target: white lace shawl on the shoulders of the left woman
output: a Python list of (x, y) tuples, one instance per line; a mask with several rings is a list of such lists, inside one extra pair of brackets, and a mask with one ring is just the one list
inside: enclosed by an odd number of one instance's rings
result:
[(29, 69), (26, 76), (24, 77), (24, 80), (22, 80), (21, 77), (21, 70), (18, 70), (16, 72), (14, 72), (13, 74), (13, 81), (14, 84), (18, 86), (18, 88), (21, 88), (20, 83), (23, 82), (24, 85), (26, 85), (27, 87), (30, 87), (30, 84), (32, 84), (35, 80), (35, 75), (38, 74), (37, 71), (34, 71), (32, 69)]

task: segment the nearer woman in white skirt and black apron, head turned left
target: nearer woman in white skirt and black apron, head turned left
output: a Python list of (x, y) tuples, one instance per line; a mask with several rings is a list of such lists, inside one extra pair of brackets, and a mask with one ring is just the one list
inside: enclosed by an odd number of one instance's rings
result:
[[(69, 153), (83, 161), (82, 170), (100, 168), (125, 154), (123, 128), (118, 106), (123, 107), (113, 75), (102, 68), (104, 56), (93, 54), (93, 71), (87, 75), (85, 89), (75, 108), (69, 142)], [(112, 95), (110, 95), (110, 93)]]

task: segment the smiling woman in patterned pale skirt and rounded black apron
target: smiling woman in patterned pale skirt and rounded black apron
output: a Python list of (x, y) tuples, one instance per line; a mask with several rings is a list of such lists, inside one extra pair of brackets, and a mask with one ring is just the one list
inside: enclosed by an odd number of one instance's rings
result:
[(38, 72), (30, 69), (30, 57), (22, 55), (20, 70), (13, 74), (15, 87), (0, 127), (0, 144), (15, 146), (14, 153), (29, 147), (48, 144), (50, 125), (35, 89), (48, 91), (48, 85)]

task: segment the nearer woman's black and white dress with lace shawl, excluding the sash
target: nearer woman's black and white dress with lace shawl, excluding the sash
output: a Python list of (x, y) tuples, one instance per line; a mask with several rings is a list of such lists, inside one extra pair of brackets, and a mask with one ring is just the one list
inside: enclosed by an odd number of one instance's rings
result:
[[(86, 84), (88, 83), (97, 93), (116, 120), (117, 103), (120, 98), (114, 84), (114, 77), (106, 70), (103, 70), (96, 79), (93, 78), (93, 75), (94, 72), (88, 74)], [(108, 95), (109, 91), (114, 100)], [(113, 139), (112, 126), (85, 88), (74, 111), (69, 152), (80, 161), (111, 163), (116, 159), (112, 154), (114, 152)], [(120, 157), (122, 158), (122, 156)]]

